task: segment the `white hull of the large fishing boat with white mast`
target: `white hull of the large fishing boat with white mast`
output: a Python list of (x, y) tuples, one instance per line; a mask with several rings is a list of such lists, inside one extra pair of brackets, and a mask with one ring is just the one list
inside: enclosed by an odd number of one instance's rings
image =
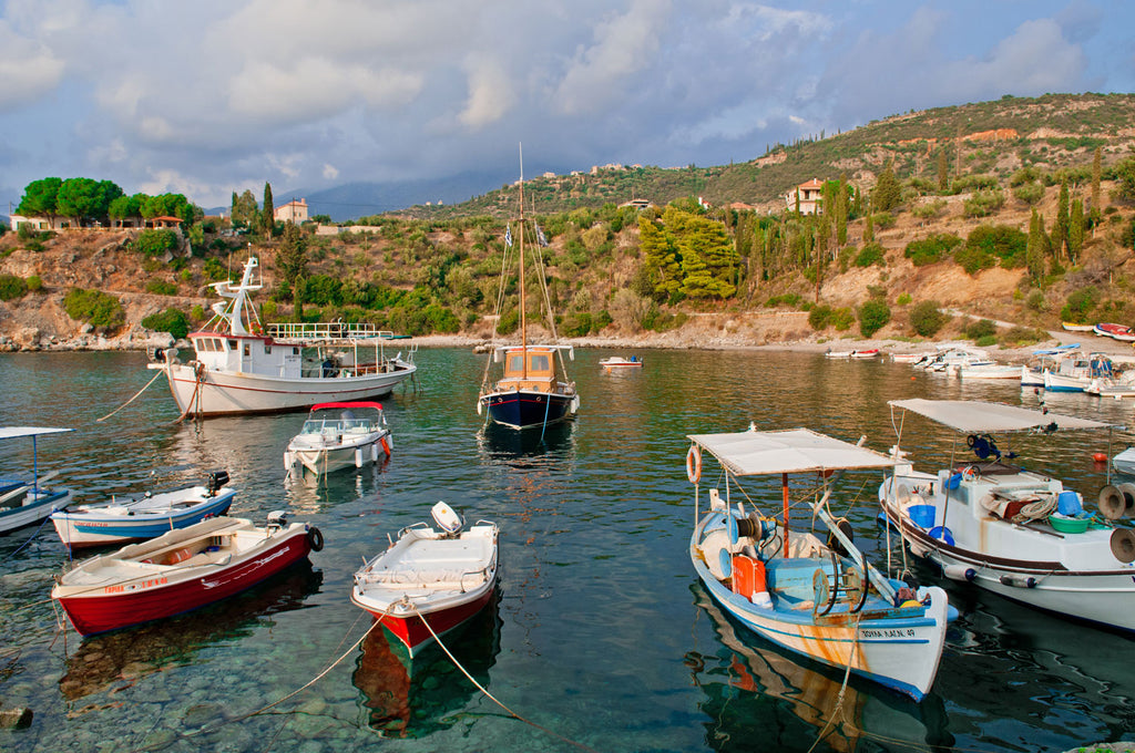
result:
[(417, 366), (398, 362), (386, 373), (360, 376), (281, 379), (225, 371), (197, 372), (188, 364), (151, 364), (166, 372), (170, 392), (183, 413), (224, 416), (305, 411), (318, 403), (363, 400), (389, 395), (413, 376)]

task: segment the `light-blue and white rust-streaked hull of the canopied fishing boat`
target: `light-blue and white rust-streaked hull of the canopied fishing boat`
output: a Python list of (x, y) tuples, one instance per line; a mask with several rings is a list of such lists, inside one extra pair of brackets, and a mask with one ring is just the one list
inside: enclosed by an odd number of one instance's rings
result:
[[(948, 601), (941, 589), (919, 589), (918, 597), (928, 597), (930, 606), (917, 610), (897, 610), (894, 617), (871, 618), (865, 608), (857, 618), (817, 623), (812, 609), (762, 608), (748, 598), (733, 593), (715, 575), (707, 561), (718, 557), (724, 538), (714, 528), (723, 527), (720, 514), (707, 515), (690, 540), (690, 559), (698, 578), (725, 611), (762, 637), (794, 653), (831, 667), (847, 670), (886, 687), (922, 700), (930, 692), (938, 674), (945, 641)], [(796, 560), (823, 569), (827, 558)], [(772, 590), (772, 589), (771, 589)], [(781, 599), (774, 595), (780, 602)], [(907, 614), (898, 616), (899, 612)], [(913, 612), (918, 612), (917, 615)], [(877, 615), (876, 615), (877, 616)]]

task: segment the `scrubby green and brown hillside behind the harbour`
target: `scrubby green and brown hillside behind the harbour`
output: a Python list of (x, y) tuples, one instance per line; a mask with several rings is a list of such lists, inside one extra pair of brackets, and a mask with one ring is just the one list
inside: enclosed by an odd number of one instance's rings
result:
[[(526, 200), (535, 204), (550, 239), (544, 249), (550, 301), (560, 332), (572, 337), (666, 346), (854, 338), (859, 332), (855, 314), (871, 299), (884, 302), (890, 314), (878, 337), (914, 337), (910, 315), (924, 302), (1022, 328), (1053, 329), (1077, 291), (1090, 294), (1083, 315), (1132, 324), (1135, 208), (1119, 196), (1121, 176), (1113, 168), (1135, 153), (1133, 147), (1135, 96), (1007, 98), (896, 116), (847, 134), (775, 147), (745, 164), (537, 178), (526, 184)], [(975, 230), (999, 228), (1024, 243), (1034, 209), (1053, 230), (1061, 213), (1061, 183), (1074, 203), (1090, 204), (1096, 150), (1103, 163), (1099, 205), (1090, 206), (1093, 219), (1083, 226), (1087, 236), (1075, 260), (1050, 249), (1042, 270), (1029, 271), (1019, 256), (987, 255), (985, 269), (964, 269), (977, 253), (966, 245)], [(948, 185), (939, 188), (943, 164)], [(839, 176), (847, 176), (852, 193), (868, 197), (886, 166), (901, 183), (898, 205), (881, 213), (852, 211), (846, 243), (827, 240), (827, 234), (835, 234), (823, 218), (793, 217), (776, 198), (808, 178)], [(976, 197), (993, 193), (1000, 203), (976, 215)], [(691, 195), (717, 208), (757, 209), (706, 212)], [(659, 205), (676, 202), (679, 214), (671, 220), (716, 227), (730, 253), (735, 252), (725, 272), (735, 293), (669, 299), (651, 293), (640, 228), (648, 222), (655, 234), (669, 234), (676, 226), (667, 226), (661, 208), (641, 215), (615, 209), (631, 196)], [(305, 315), (365, 319), (413, 335), (488, 338), (504, 218), (515, 210), (516, 191), (508, 187), (466, 204), (367, 218), (361, 223), (370, 227), (354, 229), (368, 232), (323, 236), (308, 228)], [(767, 214), (770, 210), (775, 213)], [(874, 244), (864, 239), (868, 217)], [(176, 308), (200, 323), (213, 301), (208, 284), (224, 279), (249, 251), (262, 260), (266, 293), (258, 303), (266, 318), (289, 315), (275, 264), (284, 240), (236, 238), (219, 230), (207, 228), (192, 254), (183, 247), (160, 259), (135, 251), (128, 231), (6, 234), (0, 237), (0, 298), (7, 298), (0, 301), (0, 348), (60, 347), (66, 341), (70, 347), (141, 347), (146, 339), (138, 323), (150, 314)], [(911, 242), (943, 234), (964, 245), (923, 265), (905, 255)], [(14, 278), (20, 282), (5, 282)], [(5, 294), (19, 285), (19, 295)], [(74, 288), (118, 298), (120, 323), (93, 327), (72, 319), (64, 299)], [(816, 331), (809, 324), (816, 306), (831, 308), (835, 323)], [(956, 318), (938, 337), (961, 335), (967, 323)], [(127, 339), (100, 342), (100, 335)], [(1027, 337), (1022, 331), (1009, 339)]]

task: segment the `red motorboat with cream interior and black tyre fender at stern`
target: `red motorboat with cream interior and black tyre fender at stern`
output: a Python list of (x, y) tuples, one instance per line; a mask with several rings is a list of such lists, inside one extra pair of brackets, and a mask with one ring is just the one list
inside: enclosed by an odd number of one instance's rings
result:
[(56, 578), (51, 598), (79, 634), (106, 633), (227, 599), (322, 548), (319, 528), (283, 511), (263, 528), (215, 517), (84, 560)]

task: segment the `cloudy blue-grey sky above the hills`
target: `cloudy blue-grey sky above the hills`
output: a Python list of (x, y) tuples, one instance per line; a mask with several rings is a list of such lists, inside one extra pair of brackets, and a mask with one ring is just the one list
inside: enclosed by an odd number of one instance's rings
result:
[(1135, 2), (0, 0), (0, 213), (44, 177), (203, 208), (516, 177), (520, 144), (528, 177), (728, 164), (1050, 92), (1135, 92)]

